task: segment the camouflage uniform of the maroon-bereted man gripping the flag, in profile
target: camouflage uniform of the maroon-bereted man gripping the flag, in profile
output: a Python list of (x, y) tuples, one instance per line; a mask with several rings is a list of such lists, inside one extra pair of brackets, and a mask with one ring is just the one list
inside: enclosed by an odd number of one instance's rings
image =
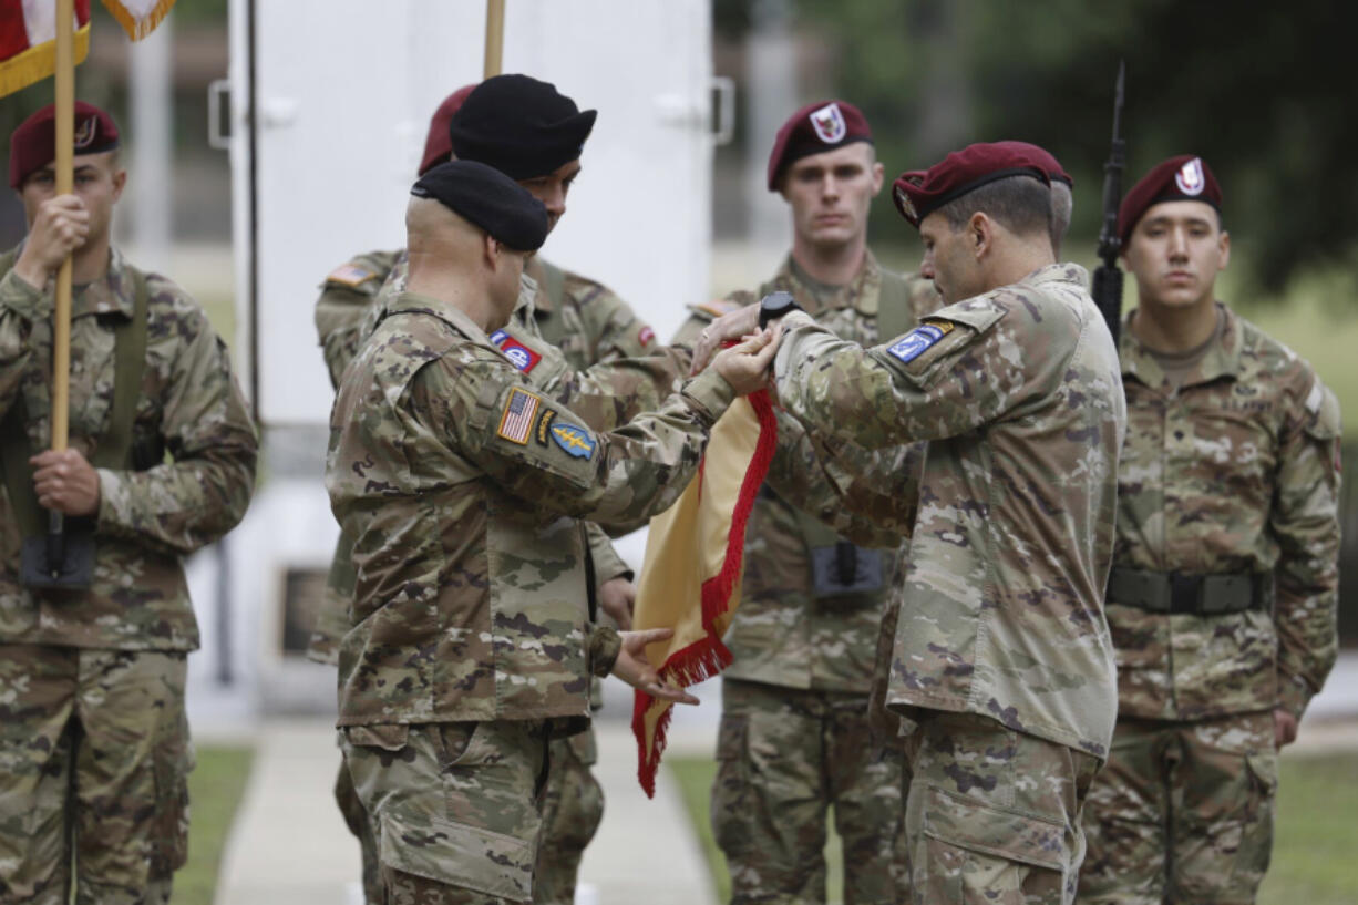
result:
[[(917, 902), (1074, 895), (1080, 806), (1116, 704), (1103, 587), (1126, 427), (1085, 283), (1048, 265), (870, 351), (785, 318), (778, 397), (808, 429), (929, 442), (918, 486), (883, 484), (865, 507), (911, 538), (888, 704), (921, 724), (906, 802)], [(967, 745), (951, 743), (964, 728)]]

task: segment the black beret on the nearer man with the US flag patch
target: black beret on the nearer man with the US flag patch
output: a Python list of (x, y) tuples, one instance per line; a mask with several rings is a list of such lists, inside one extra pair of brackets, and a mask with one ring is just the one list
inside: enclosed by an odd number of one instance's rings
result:
[(410, 194), (439, 201), (517, 251), (536, 251), (547, 239), (547, 208), (542, 201), (483, 163), (440, 163), (420, 177)]

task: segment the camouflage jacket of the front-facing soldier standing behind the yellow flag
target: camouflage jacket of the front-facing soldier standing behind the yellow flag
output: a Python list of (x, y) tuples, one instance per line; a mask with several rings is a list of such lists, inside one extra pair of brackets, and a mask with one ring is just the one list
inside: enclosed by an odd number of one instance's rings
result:
[[(801, 279), (800, 273), (789, 255), (756, 292), (733, 292), (716, 304), (695, 307), (675, 341), (691, 344), (718, 310), (735, 310), (778, 289), (790, 292), (803, 310), (835, 336), (865, 347), (881, 341), (877, 311), (884, 300), (883, 270), (870, 251), (849, 285), (834, 292)], [(885, 279), (899, 284), (888, 303), (911, 308), (909, 315), (898, 317), (902, 326), (914, 326), (922, 314), (938, 307), (932, 281), (896, 274)], [(785, 428), (779, 431), (781, 438), (786, 435)], [(796, 451), (784, 440), (778, 458), (789, 455)], [(777, 480), (765, 484), (750, 514), (743, 597), (724, 639), (735, 662), (722, 675), (784, 688), (866, 694), (891, 576), (891, 552), (854, 550), (851, 567), (861, 580), (857, 590), (846, 591), (838, 582), (835, 558), (842, 538), (804, 514), (803, 486), (797, 486), (794, 496), (782, 496), (775, 484)], [(819, 557), (819, 568), (813, 557)]]

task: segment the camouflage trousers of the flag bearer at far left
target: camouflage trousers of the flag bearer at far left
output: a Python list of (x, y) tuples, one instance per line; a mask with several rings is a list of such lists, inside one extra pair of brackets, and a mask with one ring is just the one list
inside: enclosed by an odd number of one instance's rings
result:
[[(170, 901), (193, 754), (182, 652), (0, 645), (0, 902)], [(73, 876), (72, 876), (73, 874)]]

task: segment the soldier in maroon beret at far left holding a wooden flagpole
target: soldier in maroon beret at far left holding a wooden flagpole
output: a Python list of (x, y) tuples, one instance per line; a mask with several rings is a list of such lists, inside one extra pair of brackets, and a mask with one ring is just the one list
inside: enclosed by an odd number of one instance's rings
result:
[[(29, 232), (0, 255), (0, 900), (168, 902), (187, 847), (183, 696), (198, 647), (182, 556), (244, 514), (257, 438), (202, 308), (113, 243), (128, 182), (113, 117), (76, 103), (73, 139), (72, 190), (58, 194), (53, 107), (10, 137)], [(67, 258), (69, 446), (54, 451)], [(20, 571), (43, 508), (92, 537), (88, 586), (38, 587)]]

